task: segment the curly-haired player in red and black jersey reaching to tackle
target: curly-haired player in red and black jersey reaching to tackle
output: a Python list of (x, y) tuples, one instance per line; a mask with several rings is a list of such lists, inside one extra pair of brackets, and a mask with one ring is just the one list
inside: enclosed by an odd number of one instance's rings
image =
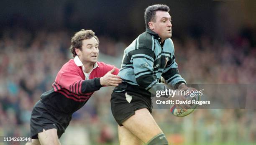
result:
[[(31, 114), (32, 145), (61, 145), (59, 138), (72, 114), (102, 86), (118, 86), (121, 79), (115, 66), (98, 62), (99, 39), (91, 30), (75, 33), (69, 60), (58, 72), (52, 89), (41, 95)], [(31, 144), (31, 143), (27, 143)]]

